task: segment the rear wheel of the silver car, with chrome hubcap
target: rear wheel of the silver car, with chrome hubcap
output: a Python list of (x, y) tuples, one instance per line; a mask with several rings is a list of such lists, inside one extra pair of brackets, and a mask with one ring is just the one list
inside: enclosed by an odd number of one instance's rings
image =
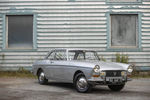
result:
[(40, 83), (41, 85), (45, 85), (45, 84), (48, 83), (48, 79), (46, 79), (43, 70), (40, 70), (40, 71), (38, 72), (38, 81), (39, 81), (39, 83)]

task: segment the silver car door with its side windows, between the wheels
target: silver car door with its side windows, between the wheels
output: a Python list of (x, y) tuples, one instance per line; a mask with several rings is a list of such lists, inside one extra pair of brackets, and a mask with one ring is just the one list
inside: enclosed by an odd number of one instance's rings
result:
[(55, 50), (47, 57), (46, 73), (49, 79), (56, 81), (64, 80), (66, 61), (66, 50)]

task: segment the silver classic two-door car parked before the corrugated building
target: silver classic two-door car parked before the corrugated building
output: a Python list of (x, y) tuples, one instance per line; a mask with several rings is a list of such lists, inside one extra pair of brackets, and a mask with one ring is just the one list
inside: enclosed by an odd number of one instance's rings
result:
[(48, 80), (73, 83), (81, 93), (95, 85), (120, 91), (131, 80), (132, 71), (132, 65), (101, 61), (97, 52), (89, 49), (54, 49), (33, 64), (40, 84), (47, 84)]

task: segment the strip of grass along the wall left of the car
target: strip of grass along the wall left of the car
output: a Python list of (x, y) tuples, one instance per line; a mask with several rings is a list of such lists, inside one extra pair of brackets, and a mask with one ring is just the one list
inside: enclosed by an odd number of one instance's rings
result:
[(36, 78), (30, 71), (24, 68), (19, 68), (17, 71), (0, 71), (1, 77), (16, 77), (16, 78)]

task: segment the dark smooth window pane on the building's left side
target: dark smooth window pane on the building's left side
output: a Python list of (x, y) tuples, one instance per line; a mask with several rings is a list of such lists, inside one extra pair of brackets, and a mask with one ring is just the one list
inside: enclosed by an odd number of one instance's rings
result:
[(33, 47), (33, 15), (8, 15), (7, 48)]

